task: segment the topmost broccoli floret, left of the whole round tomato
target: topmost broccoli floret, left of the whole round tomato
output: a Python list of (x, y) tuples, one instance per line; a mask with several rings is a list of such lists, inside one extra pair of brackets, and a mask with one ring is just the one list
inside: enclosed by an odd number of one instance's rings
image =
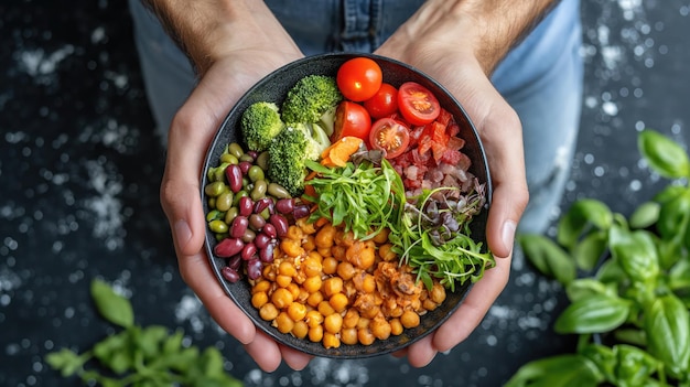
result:
[(294, 84), (283, 101), (282, 120), (287, 125), (314, 123), (343, 100), (335, 78), (308, 75)]

